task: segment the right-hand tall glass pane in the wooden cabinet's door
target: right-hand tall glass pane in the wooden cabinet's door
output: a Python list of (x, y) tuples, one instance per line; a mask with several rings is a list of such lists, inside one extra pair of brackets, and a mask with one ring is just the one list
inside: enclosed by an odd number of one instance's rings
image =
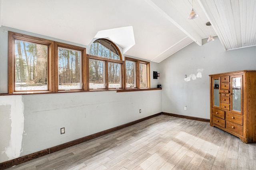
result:
[(241, 113), (242, 76), (232, 77), (231, 111)]

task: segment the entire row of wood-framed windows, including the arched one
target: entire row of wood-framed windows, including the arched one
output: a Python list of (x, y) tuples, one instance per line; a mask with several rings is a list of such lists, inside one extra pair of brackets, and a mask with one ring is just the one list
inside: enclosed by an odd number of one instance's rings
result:
[(89, 55), (83, 47), (10, 31), (8, 36), (9, 94), (150, 88), (149, 62), (122, 61), (108, 39), (94, 41)]

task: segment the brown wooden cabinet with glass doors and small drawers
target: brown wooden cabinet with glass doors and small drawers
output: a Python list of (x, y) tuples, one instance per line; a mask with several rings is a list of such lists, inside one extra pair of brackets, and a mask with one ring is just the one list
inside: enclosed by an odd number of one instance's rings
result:
[(210, 75), (210, 125), (256, 143), (256, 70)]

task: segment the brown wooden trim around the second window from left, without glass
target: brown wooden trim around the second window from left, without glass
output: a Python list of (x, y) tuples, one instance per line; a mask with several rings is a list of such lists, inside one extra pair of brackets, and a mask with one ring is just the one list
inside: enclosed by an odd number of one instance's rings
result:
[(87, 78), (87, 74), (86, 74), (86, 64), (87, 64), (87, 60), (86, 60), (86, 48), (84, 47), (78, 47), (75, 45), (70, 45), (70, 44), (65, 44), (65, 43), (59, 43), (59, 42), (55, 42), (54, 44), (54, 84), (55, 84), (55, 91), (64, 91), (64, 90), (59, 90), (58, 89), (58, 47), (61, 48), (66, 48), (66, 49), (70, 49), (70, 50), (76, 50), (76, 51), (81, 51), (81, 83), (82, 83), (82, 89), (81, 90), (70, 90), (70, 91), (85, 91), (88, 90), (88, 84), (86, 83), (86, 78)]

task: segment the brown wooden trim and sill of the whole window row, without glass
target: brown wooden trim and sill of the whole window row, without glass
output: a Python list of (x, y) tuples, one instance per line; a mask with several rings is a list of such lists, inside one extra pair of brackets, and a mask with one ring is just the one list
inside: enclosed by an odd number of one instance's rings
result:
[[(48, 46), (48, 90), (28, 90), (24, 92), (15, 92), (15, 65), (14, 65), (14, 57), (15, 57), (15, 40), (20, 41), (27, 41), (30, 43), (36, 43), (41, 45), (47, 45)], [(108, 40), (110, 41), (110, 40)], [(89, 87), (89, 59), (97, 59), (100, 61), (105, 62), (105, 79), (106, 79), (106, 88), (105, 89), (99, 89), (96, 91), (112, 91), (116, 90), (116, 88), (109, 88), (108, 87), (108, 62), (112, 63), (119, 63), (121, 64), (121, 85), (122, 87), (117, 92), (122, 91), (144, 91), (144, 90), (159, 90), (158, 88), (150, 88), (150, 62), (142, 61), (139, 59), (133, 59), (130, 57), (125, 57), (125, 61), (122, 60), (122, 55), (120, 53), (120, 50), (118, 47), (112, 42), (112, 45), (116, 47), (119, 53), (120, 60), (115, 60), (111, 58), (106, 57), (98, 57), (90, 54), (86, 54), (86, 49), (83, 47), (78, 47), (74, 45), (69, 45), (65, 43), (55, 42), (48, 39), (43, 39), (39, 37), (34, 37), (30, 35), (24, 35), (22, 33), (15, 33), (12, 31), (9, 31), (8, 34), (8, 94), (0, 94), (2, 95), (15, 95), (15, 94), (46, 94), (46, 93), (60, 93), (60, 92), (66, 92), (66, 91), (59, 91), (58, 90), (58, 47), (71, 49), (71, 50), (77, 50), (81, 51), (81, 81), (82, 81), (82, 89), (81, 90), (70, 90), (68, 92), (88, 92), (88, 91), (95, 91), (90, 90)], [(134, 61), (136, 62), (136, 88), (128, 89), (126, 90), (126, 68), (125, 68), (125, 62), (128, 61)], [(146, 88), (140, 88), (140, 74), (139, 74), (139, 66), (140, 63), (147, 64), (147, 87)]]

